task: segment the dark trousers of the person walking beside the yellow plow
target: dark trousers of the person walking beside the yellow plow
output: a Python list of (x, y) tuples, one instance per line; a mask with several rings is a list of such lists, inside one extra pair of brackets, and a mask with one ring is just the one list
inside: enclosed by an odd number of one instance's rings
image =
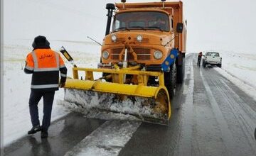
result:
[(50, 116), (53, 108), (53, 99), (55, 91), (33, 91), (31, 89), (31, 94), (29, 98), (29, 112), (31, 115), (32, 126), (40, 125), (38, 117), (38, 102), (43, 97), (43, 122), (42, 129), (48, 130), (50, 126)]

